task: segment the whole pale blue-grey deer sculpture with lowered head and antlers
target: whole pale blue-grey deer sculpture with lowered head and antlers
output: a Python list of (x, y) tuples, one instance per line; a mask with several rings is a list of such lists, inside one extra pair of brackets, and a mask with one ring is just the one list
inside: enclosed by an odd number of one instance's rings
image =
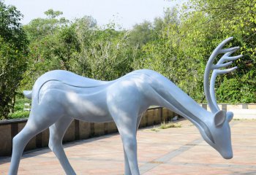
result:
[[(229, 122), (233, 113), (219, 109), (214, 93), (217, 75), (236, 69), (221, 68), (230, 66), (232, 61), (242, 56), (230, 56), (239, 47), (222, 48), (231, 39), (233, 38), (225, 39), (217, 46), (206, 65), (204, 90), (211, 112), (203, 109), (173, 82), (156, 71), (132, 71), (109, 82), (80, 77), (61, 70), (43, 74), (35, 82), (33, 90), (24, 91), (24, 95), (32, 99), (31, 112), (26, 126), (13, 139), (9, 174), (18, 173), (24, 147), (32, 137), (46, 128), (50, 128), (50, 149), (59, 159), (66, 174), (75, 174), (62, 147), (62, 139), (69, 124), (77, 119), (91, 123), (114, 121), (124, 147), (124, 174), (138, 175), (140, 172), (136, 133), (143, 112), (151, 105), (166, 107), (187, 118), (198, 128), (203, 139), (223, 158), (232, 158)], [(214, 64), (214, 59), (220, 53), (225, 54)]]

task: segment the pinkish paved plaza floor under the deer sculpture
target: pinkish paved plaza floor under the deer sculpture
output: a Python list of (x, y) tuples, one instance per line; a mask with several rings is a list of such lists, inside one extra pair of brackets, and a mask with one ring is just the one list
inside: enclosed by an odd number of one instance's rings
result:
[[(233, 153), (223, 159), (208, 146), (187, 120), (181, 128), (138, 131), (140, 174), (256, 174), (256, 120), (233, 120)], [(77, 174), (123, 174), (124, 161), (119, 135), (65, 144), (65, 151)], [(7, 174), (10, 158), (0, 158), (0, 174)], [(18, 174), (64, 174), (49, 149), (23, 155)]]

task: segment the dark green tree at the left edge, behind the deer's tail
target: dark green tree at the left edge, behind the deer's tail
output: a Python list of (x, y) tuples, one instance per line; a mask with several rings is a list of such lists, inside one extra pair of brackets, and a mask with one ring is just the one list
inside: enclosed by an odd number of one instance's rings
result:
[(23, 72), (26, 71), (28, 40), (20, 24), (23, 16), (14, 6), (0, 1), (0, 116), (7, 118), (15, 104)]

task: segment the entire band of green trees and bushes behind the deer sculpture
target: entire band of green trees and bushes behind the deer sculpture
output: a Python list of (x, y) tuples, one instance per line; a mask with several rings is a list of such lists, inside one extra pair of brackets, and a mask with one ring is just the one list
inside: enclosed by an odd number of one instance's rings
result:
[[(18, 77), (12, 88), (3, 86), (12, 79), (1, 83), (1, 90), (7, 89), (2, 92), (8, 94), (3, 103), (13, 106), (20, 79), (20, 90), (29, 90), (40, 75), (53, 69), (102, 80), (134, 69), (154, 69), (203, 102), (206, 62), (217, 44), (229, 36), (234, 39), (226, 47), (241, 46), (233, 55), (244, 57), (235, 61), (235, 72), (217, 78), (217, 101), (256, 103), (255, 4), (255, 0), (189, 0), (180, 10), (166, 9), (162, 18), (136, 24), (129, 31), (117, 31), (114, 23), (99, 28), (91, 16), (69, 21), (61, 18), (62, 12), (49, 9), (45, 18), (24, 26), (30, 41), (24, 61), (28, 41), (18, 22), (22, 15), (15, 7), (0, 3), (0, 76)], [(2, 109), (6, 114), (10, 111)]]

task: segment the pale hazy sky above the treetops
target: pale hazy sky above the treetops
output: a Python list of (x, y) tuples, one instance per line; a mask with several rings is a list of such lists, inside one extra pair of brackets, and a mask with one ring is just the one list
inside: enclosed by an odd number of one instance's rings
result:
[(63, 12), (69, 20), (92, 16), (99, 26), (110, 21), (122, 28), (132, 28), (143, 20), (153, 21), (162, 17), (167, 7), (174, 7), (182, 1), (175, 0), (5, 0), (7, 5), (14, 5), (24, 15), (21, 23), (28, 24), (34, 18), (45, 18), (48, 9)]

